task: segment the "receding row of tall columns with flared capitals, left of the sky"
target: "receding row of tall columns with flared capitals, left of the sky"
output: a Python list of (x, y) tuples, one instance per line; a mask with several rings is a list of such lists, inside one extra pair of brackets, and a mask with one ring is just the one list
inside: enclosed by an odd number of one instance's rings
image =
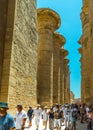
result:
[(61, 24), (59, 15), (48, 8), (38, 9), (37, 101), (41, 105), (70, 101), (68, 52), (65, 38), (55, 32)]

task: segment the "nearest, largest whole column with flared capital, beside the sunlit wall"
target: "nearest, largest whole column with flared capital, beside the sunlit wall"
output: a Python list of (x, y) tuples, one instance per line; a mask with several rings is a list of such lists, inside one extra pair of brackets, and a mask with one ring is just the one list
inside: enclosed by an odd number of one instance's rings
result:
[(53, 33), (60, 26), (59, 15), (48, 8), (37, 11), (38, 73), (37, 96), (41, 105), (51, 104), (53, 95)]

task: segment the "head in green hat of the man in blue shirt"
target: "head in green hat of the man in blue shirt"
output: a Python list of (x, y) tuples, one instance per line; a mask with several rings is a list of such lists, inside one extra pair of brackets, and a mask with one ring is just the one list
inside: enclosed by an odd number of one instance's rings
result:
[(0, 102), (0, 115), (5, 116), (8, 110), (7, 102)]

